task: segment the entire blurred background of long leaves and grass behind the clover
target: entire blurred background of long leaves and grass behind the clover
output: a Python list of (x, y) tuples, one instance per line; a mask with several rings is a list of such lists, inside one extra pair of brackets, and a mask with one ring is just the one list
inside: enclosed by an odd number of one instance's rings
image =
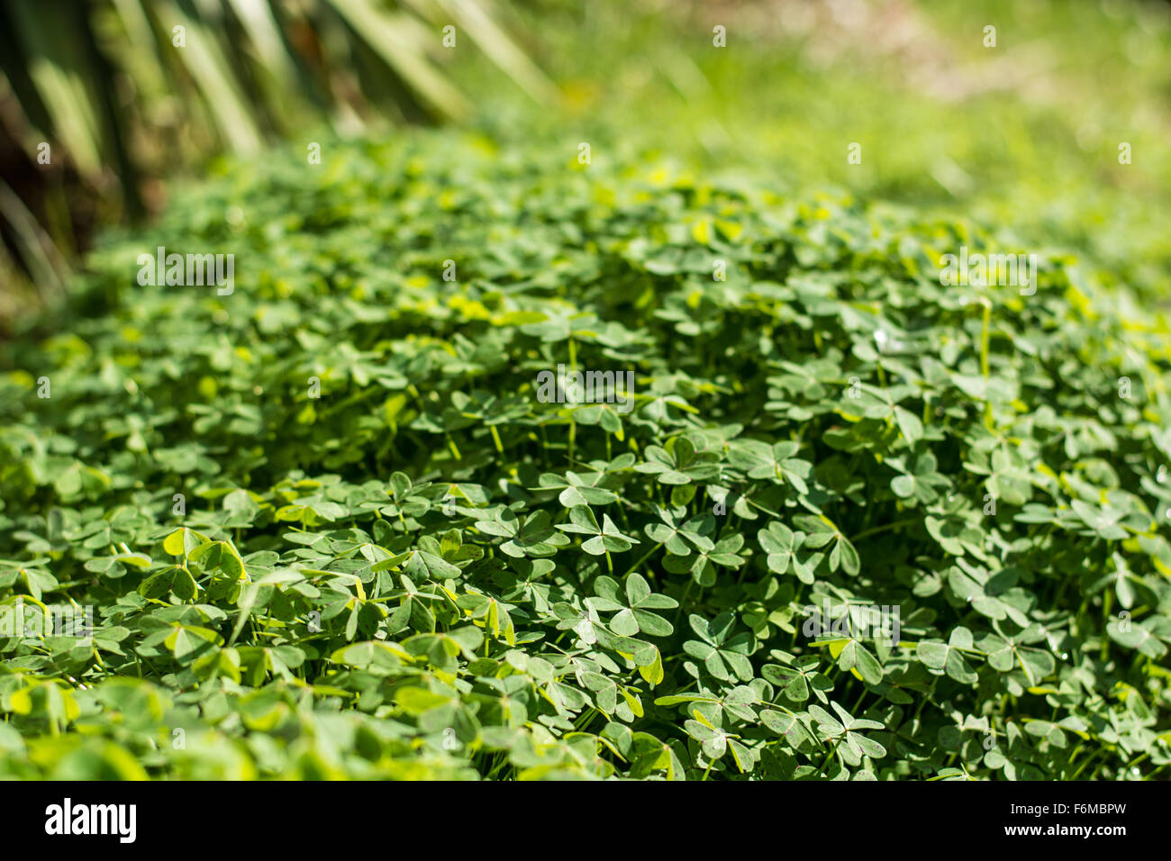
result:
[(1162, 0), (18, 0), (0, 321), (67, 300), (96, 231), (218, 158), (415, 124), (844, 187), (1171, 298)]

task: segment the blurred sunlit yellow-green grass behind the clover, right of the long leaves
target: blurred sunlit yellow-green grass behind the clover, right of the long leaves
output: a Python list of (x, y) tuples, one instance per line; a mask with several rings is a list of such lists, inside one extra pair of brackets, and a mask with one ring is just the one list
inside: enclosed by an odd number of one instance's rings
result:
[[(536, 122), (567, 152), (658, 149), (704, 171), (959, 213), (1171, 298), (1166, 4), (547, 2), (522, 22), (564, 93)], [(527, 136), (523, 114), (479, 122)], [(847, 163), (851, 142), (861, 165)]]

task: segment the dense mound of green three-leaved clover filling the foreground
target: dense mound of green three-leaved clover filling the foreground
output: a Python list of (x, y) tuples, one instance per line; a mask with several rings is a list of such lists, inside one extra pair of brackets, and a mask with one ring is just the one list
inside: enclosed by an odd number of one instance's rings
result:
[[(323, 152), (4, 346), (0, 609), (94, 624), (2, 631), (0, 773), (1165, 777), (1162, 317), (1070, 255), (946, 286), (1036, 250), (844, 194)], [(234, 289), (139, 286), (158, 246)]]

